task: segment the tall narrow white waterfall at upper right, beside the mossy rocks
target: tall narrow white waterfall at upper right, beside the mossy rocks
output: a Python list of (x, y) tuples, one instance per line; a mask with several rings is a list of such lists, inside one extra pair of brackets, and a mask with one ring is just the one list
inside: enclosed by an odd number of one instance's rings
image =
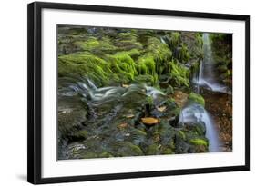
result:
[(213, 92), (228, 93), (228, 88), (216, 81), (214, 59), (212, 57), (212, 50), (210, 44), (210, 36), (208, 33), (202, 35), (203, 40), (203, 60), (200, 62), (200, 72), (195, 83), (198, 84), (198, 92), (200, 86), (204, 86)]

